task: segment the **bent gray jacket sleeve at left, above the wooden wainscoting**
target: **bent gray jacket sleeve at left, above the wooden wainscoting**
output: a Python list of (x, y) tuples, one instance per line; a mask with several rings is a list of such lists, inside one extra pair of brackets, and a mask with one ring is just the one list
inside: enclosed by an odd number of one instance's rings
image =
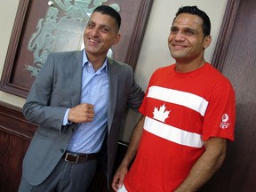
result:
[[(65, 80), (65, 70), (68, 71), (68, 66), (63, 68), (63, 64), (60, 66), (61, 62), (60, 57), (56, 59), (49, 54), (23, 106), (23, 114), (29, 122), (58, 132), (64, 132), (66, 128), (62, 126), (62, 122), (66, 110), (70, 107), (70, 98), (65, 98), (67, 94), (70, 96)], [(66, 77), (68, 78), (68, 75)]]

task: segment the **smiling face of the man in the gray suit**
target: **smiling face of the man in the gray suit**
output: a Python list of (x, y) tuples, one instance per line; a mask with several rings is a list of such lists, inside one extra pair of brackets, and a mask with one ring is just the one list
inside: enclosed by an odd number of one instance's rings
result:
[(116, 20), (107, 14), (93, 12), (84, 30), (84, 47), (88, 60), (105, 60), (108, 49), (120, 39)]

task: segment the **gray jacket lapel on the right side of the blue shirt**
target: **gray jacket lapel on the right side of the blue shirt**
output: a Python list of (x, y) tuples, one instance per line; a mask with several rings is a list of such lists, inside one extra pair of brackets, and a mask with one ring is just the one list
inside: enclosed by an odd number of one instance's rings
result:
[(115, 68), (114, 60), (108, 59), (108, 133), (111, 129), (111, 124), (114, 117), (114, 111), (116, 108), (116, 94), (117, 94), (117, 71)]

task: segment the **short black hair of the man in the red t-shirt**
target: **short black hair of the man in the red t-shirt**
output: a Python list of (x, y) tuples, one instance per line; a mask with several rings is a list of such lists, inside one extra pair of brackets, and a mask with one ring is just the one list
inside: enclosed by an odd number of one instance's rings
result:
[[(176, 17), (181, 13), (194, 14), (194, 15), (197, 15), (198, 17), (200, 17), (203, 20), (202, 28), (203, 28), (204, 36), (210, 36), (211, 21), (210, 21), (208, 15), (204, 11), (198, 9), (197, 6), (182, 6), (178, 10), (178, 12), (176, 12)], [(176, 17), (174, 18), (174, 20), (176, 19)]]

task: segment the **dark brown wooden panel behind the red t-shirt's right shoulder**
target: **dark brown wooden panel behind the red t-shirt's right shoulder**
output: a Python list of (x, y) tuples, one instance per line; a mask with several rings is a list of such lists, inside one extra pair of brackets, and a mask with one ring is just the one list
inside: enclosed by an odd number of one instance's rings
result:
[(236, 92), (235, 141), (225, 163), (201, 191), (256, 191), (256, 4), (228, 0), (212, 64)]

